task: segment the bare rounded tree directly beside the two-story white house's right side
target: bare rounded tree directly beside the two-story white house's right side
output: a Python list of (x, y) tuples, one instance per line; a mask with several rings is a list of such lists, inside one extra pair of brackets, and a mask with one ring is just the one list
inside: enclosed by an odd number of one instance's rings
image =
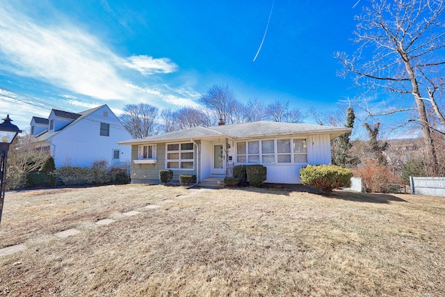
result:
[(133, 138), (144, 138), (156, 134), (158, 109), (150, 104), (126, 104), (119, 116)]

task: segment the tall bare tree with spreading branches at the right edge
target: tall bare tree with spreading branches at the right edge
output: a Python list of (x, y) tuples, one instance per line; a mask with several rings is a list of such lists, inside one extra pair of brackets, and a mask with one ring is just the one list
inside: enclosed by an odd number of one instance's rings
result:
[[(445, 87), (444, 10), (445, 3), (440, 0), (369, 0), (363, 14), (356, 17), (357, 51), (351, 57), (336, 54), (344, 66), (342, 74), (355, 74), (360, 86), (383, 88), (410, 98), (378, 115), (415, 112), (408, 121), (421, 127), (432, 175), (438, 170), (432, 134), (444, 134), (445, 129), (437, 103)], [(432, 112), (428, 114), (428, 110)], [(441, 125), (432, 125), (434, 122)]]

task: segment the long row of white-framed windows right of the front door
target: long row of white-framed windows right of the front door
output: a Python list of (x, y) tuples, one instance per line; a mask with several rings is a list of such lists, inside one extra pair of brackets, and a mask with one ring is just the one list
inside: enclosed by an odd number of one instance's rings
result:
[(236, 143), (238, 163), (307, 163), (305, 138), (265, 139)]

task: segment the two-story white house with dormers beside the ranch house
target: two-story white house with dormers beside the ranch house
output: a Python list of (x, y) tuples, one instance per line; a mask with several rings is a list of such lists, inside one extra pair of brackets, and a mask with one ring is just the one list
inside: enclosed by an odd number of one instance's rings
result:
[(131, 148), (118, 145), (131, 134), (106, 104), (81, 113), (53, 109), (48, 118), (33, 117), (31, 134), (51, 152), (56, 168), (91, 167), (100, 160), (127, 168), (131, 160)]

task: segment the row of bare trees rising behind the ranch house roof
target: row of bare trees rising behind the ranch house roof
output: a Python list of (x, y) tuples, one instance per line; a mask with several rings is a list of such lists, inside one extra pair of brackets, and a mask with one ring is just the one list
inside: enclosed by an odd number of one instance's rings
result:
[(307, 118), (307, 114), (300, 109), (291, 108), (289, 101), (275, 100), (265, 104), (257, 98), (251, 98), (243, 104), (227, 85), (212, 86), (198, 103), (199, 107), (186, 106), (177, 111), (160, 111), (145, 103), (127, 104), (119, 119), (133, 138), (144, 138), (197, 126), (216, 126), (220, 120), (226, 125), (232, 125), (259, 120), (301, 123)]

